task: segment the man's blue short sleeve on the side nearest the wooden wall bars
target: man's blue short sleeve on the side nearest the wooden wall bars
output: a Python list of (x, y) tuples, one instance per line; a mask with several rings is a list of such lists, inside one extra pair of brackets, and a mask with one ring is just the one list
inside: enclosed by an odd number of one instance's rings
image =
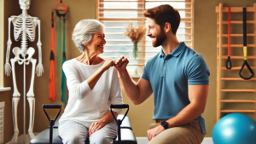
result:
[(209, 85), (209, 68), (201, 55), (193, 56), (187, 66), (188, 85)]

